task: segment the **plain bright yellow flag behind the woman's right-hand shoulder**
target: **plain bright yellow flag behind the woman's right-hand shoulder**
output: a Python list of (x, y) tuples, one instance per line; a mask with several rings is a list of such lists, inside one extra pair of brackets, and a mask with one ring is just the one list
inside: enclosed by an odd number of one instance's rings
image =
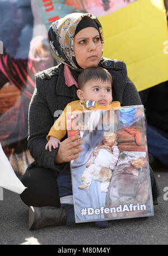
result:
[(138, 91), (168, 80), (168, 33), (164, 0), (138, 0), (99, 17), (104, 57), (123, 60)]

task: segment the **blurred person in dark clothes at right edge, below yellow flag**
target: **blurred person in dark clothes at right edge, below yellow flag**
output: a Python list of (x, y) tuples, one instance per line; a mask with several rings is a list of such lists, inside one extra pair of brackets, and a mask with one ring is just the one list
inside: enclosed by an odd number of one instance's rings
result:
[[(168, 1), (164, 0), (166, 14)], [(150, 164), (168, 167), (168, 81), (139, 92), (146, 109), (147, 145)]]

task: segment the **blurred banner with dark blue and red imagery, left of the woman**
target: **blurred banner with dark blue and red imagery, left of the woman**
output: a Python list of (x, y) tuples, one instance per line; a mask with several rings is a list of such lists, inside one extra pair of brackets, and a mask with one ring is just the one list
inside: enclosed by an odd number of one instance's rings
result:
[(0, 142), (18, 175), (34, 160), (27, 118), (35, 74), (55, 65), (35, 0), (0, 0)]

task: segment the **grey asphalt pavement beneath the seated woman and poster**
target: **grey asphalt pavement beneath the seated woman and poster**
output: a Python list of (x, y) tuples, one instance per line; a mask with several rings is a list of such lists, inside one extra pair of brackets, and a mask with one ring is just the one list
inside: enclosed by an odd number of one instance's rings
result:
[[(98, 228), (94, 223), (46, 227), (30, 231), (29, 208), (20, 196), (3, 189), (0, 201), (1, 245), (164, 245), (168, 244), (168, 168), (153, 167), (162, 195), (154, 205), (155, 215), (148, 218), (130, 218), (110, 221), (110, 227)], [(165, 196), (164, 196), (165, 194)], [(164, 200), (167, 199), (167, 200)], [(108, 247), (108, 246), (107, 246)]]

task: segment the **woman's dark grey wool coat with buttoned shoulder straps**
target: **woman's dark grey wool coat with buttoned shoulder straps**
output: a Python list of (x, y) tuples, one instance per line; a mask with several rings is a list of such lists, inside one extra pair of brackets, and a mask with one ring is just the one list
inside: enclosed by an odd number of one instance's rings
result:
[[(128, 78), (125, 63), (102, 58), (100, 64), (113, 77), (113, 101), (119, 101), (122, 106), (141, 105), (139, 93)], [(46, 135), (58, 118), (58, 115), (54, 116), (55, 111), (64, 110), (69, 102), (79, 100), (76, 86), (66, 86), (63, 68), (64, 65), (60, 64), (36, 74), (36, 88), (29, 106), (28, 148), (35, 162), (28, 169), (32, 166), (50, 168), (56, 175), (63, 172), (68, 163), (55, 164), (58, 148), (52, 152), (45, 150)]]

